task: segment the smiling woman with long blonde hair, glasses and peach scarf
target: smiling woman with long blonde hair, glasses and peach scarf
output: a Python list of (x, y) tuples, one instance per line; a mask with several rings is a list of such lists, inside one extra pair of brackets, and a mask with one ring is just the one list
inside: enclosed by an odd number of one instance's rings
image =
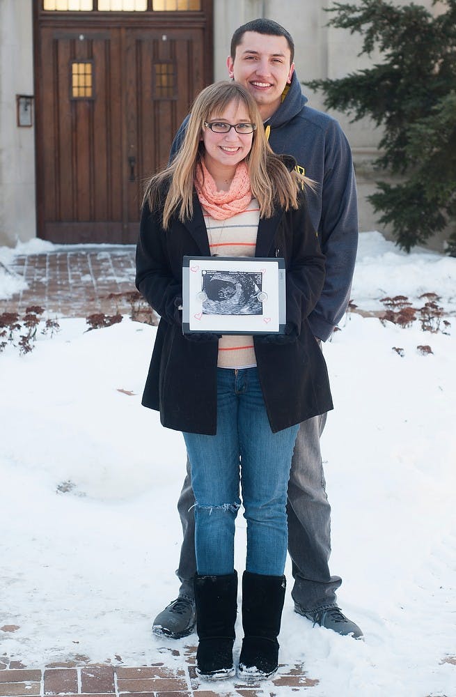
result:
[[(284, 159), (269, 148), (248, 91), (220, 82), (196, 98), (182, 148), (152, 177), (143, 201), (136, 286), (161, 316), (143, 405), (182, 431), (187, 446), (196, 498), (197, 671), (212, 680), (235, 673), (239, 480), (247, 553), (238, 674), (258, 680), (278, 666), (298, 425), (332, 408), (306, 321), (322, 290), (324, 256), (303, 180)], [(285, 335), (182, 334), (182, 257), (211, 254), (285, 259)]]

